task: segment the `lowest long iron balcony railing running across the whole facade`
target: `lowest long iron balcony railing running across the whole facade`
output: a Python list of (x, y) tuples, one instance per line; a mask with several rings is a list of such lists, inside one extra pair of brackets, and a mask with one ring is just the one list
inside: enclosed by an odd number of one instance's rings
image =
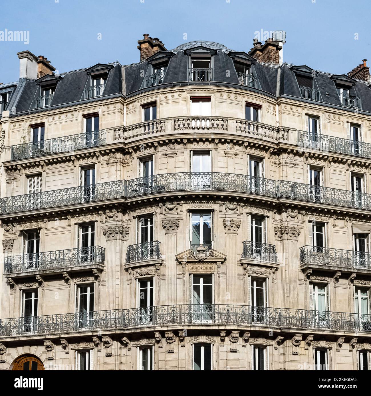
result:
[(169, 325), (276, 326), (294, 329), (371, 331), (371, 315), (250, 305), (161, 305), (132, 309), (0, 320), (0, 337), (30, 334), (63, 334)]

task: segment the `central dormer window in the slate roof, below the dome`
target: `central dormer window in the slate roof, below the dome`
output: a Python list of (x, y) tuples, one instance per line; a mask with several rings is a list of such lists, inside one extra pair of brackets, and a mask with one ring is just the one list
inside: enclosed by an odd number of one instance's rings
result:
[(202, 46), (184, 51), (189, 56), (188, 81), (201, 82), (213, 80), (213, 55), (215, 49)]

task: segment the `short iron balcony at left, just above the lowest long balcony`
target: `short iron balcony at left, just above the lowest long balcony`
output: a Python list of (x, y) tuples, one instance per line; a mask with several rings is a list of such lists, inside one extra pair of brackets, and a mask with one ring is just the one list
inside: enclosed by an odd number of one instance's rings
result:
[(80, 247), (4, 257), (4, 274), (56, 270), (66, 267), (104, 264), (105, 249), (101, 246)]

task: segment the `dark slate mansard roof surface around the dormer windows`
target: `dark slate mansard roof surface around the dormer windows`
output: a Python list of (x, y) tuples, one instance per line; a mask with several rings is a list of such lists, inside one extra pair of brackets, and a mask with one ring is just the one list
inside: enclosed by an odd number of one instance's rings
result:
[[(190, 48), (200, 47), (210, 48), (216, 50), (213, 56), (213, 82), (188, 82), (188, 55), (185, 51)], [(230, 54), (231, 52), (232, 54)], [(142, 89), (158, 89), (164, 86), (176, 85), (210, 85), (219, 84), (221, 86), (232, 86), (246, 90), (261, 90), (263, 93), (276, 97), (295, 98), (298, 101), (308, 102), (309, 99), (303, 99), (300, 94), (300, 88), (296, 80), (296, 75), (292, 70), (293, 65), (284, 63), (281, 66), (269, 65), (254, 61), (252, 64), (252, 73), (258, 77), (258, 89), (240, 86), (237, 73), (233, 63), (233, 51), (222, 44), (207, 42), (207, 41), (194, 41), (182, 44), (168, 53), (171, 55), (169, 64), (167, 66), (163, 83), (160, 86), (145, 88), (144, 76), (151, 73), (151, 58), (140, 63), (133, 63), (131, 65), (121, 66), (119, 63), (113, 64), (113, 69), (110, 70), (106, 87), (103, 93), (104, 97), (116, 97), (123, 95), (129, 97), (135, 95)], [(230, 56), (231, 55), (231, 56)], [(310, 68), (309, 68), (310, 69)], [(81, 103), (86, 101), (83, 97), (85, 86), (88, 83), (87, 69), (75, 70), (62, 74), (62, 80), (58, 82), (58, 86), (54, 93), (54, 97), (49, 109), (62, 107), (68, 103)], [(329, 107), (336, 107), (339, 109), (346, 109), (342, 107), (334, 81), (330, 78), (331, 74), (325, 72), (316, 72), (315, 86), (321, 94), (321, 101)], [(277, 93), (278, 85), (278, 93)], [(371, 89), (370, 83), (355, 80), (354, 93), (362, 98), (363, 112), (371, 113)], [(0, 86), (0, 92), (1, 92)], [(21, 112), (35, 112), (41, 110), (33, 110), (33, 98), (39, 96), (38, 85), (36, 80), (22, 80), (18, 84), (16, 95), (13, 95), (11, 104), (16, 108), (16, 115)], [(100, 100), (100, 98), (90, 99)], [(349, 111), (354, 111), (349, 109)]]

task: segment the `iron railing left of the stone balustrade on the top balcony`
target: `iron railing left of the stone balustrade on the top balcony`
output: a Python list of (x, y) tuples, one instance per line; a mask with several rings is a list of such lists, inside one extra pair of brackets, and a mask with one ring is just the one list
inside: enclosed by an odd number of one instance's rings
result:
[(62, 136), (37, 142), (12, 146), (11, 160), (23, 160), (58, 152), (73, 152), (81, 148), (96, 147), (106, 144), (106, 131), (92, 131)]

